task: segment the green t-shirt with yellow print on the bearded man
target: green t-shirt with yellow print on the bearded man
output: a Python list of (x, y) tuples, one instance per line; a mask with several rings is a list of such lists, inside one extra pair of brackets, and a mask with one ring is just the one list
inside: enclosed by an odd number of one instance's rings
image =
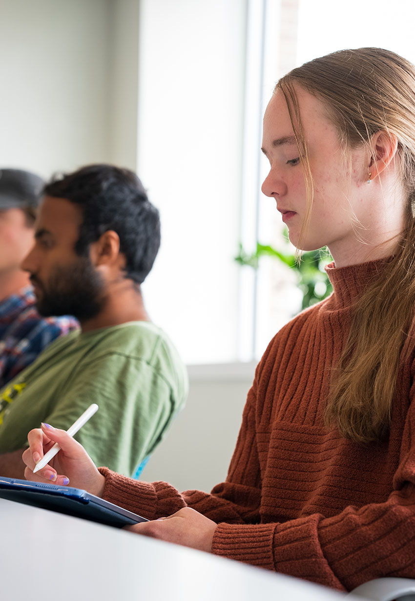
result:
[(54, 341), (0, 390), (0, 453), (27, 445), (41, 421), (67, 430), (96, 465), (132, 476), (163, 438), (188, 391), (187, 371), (160, 328), (129, 322)]

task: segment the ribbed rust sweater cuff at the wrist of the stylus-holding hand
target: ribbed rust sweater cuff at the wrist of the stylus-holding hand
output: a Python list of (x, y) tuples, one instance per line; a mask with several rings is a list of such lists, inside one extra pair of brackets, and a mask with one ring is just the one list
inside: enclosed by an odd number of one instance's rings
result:
[(121, 505), (124, 509), (138, 513), (148, 520), (154, 519), (157, 495), (152, 484), (132, 480), (108, 468), (98, 468), (98, 471), (105, 477), (103, 499)]

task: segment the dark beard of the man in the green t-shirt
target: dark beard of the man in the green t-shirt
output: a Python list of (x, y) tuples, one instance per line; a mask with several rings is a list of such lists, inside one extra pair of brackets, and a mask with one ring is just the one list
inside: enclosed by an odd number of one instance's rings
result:
[(46, 284), (35, 275), (31, 281), (39, 289), (36, 307), (43, 317), (73, 315), (85, 322), (103, 307), (103, 280), (89, 257), (79, 257), (71, 266), (55, 267)]

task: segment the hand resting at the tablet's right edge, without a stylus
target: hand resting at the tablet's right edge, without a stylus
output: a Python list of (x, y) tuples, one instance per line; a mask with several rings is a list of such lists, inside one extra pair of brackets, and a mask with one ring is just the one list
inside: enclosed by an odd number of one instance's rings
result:
[(169, 543), (177, 543), (199, 551), (212, 550), (213, 534), (217, 524), (201, 513), (183, 507), (172, 516), (159, 517), (151, 522), (140, 522), (133, 526), (126, 526), (126, 530), (144, 534)]

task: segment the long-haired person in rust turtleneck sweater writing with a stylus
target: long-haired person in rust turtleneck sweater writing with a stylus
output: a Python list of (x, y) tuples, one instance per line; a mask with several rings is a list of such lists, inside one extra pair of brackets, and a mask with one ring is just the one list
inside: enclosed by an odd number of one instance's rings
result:
[[(26, 478), (69, 479), (153, 520), (132, 531), (340, 590), (414, 577), (413, 65), (362, 48), (292, 70), (262, 151), (262, 191), (298, 249), (330, 249), (333, 294), (269, 344), (226, 481), (180, 494), (98, 471), (48, 427), (29, 433)], [(62, 451), (34, 475), (49, 441)]]

